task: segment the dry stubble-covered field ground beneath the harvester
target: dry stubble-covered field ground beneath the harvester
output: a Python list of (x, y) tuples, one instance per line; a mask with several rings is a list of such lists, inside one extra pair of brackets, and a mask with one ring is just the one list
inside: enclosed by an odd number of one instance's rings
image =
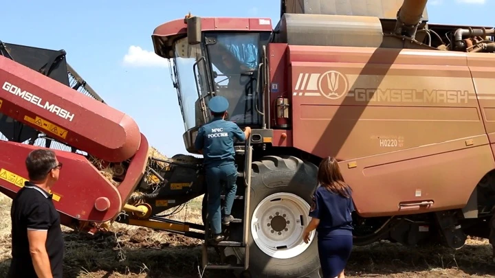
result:
[[(0, 194), (0, 277), (10, 264), (10, 199)], [(201, 198), (192, 200), (176, 220), (201, 222)], [(140, 227), (114, 224), (116, 233), (91, 237), (65, 229), (65, 277), (199, 277), (201, 241)], [(432, 246), (417, 250), (379, 243), (356, 247), (347, 277), (495, 277), (491, 247), (484, 240), (469, 240), (459, 251)], [(211, 272), (203, 277), (228, 277)]]

